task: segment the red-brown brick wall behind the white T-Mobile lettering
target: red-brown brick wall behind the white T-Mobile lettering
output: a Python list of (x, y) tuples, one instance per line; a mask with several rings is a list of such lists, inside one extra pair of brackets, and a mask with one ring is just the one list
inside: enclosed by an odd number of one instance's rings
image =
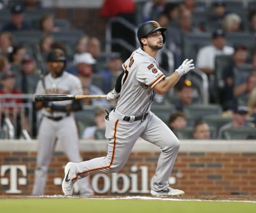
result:
[[(85, 160), (105, 156), (106, 152), (82, 152)], [(159, 152), (132, 152), (124, 168), (119, 173), (130, 174), (132, 166), (148, 166), (148, 186), (155, 173)], [(53, 178), (63, 177), (63, 166), (67, 158), (62, 152), (54, 152), (45, 194), (62, 194), (61, 186), (53, 184)], [(18, 185), (22, 194), (30, 194), (33, 188), (34, 168), (36, 166), (36, 152), (0, 152), (1, 165), (26, 165), (27, 184)], [(108, 174), (110, 177), (110, 174)], [(220, 152), (180, 152), (174, 165), (173, 177), (176, 183), (173, 188), (184, 190), (191, 195), (228, 195), (228, 194), (256, 194), (256, 152), (254, 153), (220, 153)], [(5, 178), (10, 178), (7, 171)], [(18, 172), (18, 177), (22, 174)], [(1, 176), (0, 178), (3, 178)], [(138, 185), (141, 185), (141, 173), (138, 172)], [(99, 180), (99, 188), (102, 188)], [(118, 181), (122, 189), (122, 181)], [(5, 194), (10, 185), (1, 185), (0, 194)], [(111, 194), (107, 192), (105, 194)], [(128, 194), (128, 193), (126, 193)], [(102, 194), (101, 194), (102, 195)], [(130, 194), (134, 195), (134, 194)]]

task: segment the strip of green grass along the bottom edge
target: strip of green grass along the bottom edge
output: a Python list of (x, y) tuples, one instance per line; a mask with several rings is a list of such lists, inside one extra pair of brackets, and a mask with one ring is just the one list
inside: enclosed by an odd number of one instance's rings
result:
[(255, 213), (256, 203), (224, 201), (22, 198), (0, 199), (1, 213)]

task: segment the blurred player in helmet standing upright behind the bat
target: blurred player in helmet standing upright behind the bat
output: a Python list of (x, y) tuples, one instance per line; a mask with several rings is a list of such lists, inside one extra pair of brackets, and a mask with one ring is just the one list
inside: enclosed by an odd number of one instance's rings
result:
[[(49, 74), (37, 84), (35, 95), (70, 94), (81, 95), (81, 81), (72, 74), (63, 71), (66, 56), (61, 49), (54, 49), (47, 59)], [(79, 154), (78, 133), (73, 111), (81, 110), (79, 101), (56, 101), (52, 103), (37, 102), (36, 109), (42, 109), (43, 118), (38, 131), (38, 153), (35, 169), (33, 195), (43, 195), (48, 166), (52, 158), (55, 142), (60, 141), (68, 159), (81, 162)], [(81, 195), (93, 195), (89, 176), (78, 181)]]

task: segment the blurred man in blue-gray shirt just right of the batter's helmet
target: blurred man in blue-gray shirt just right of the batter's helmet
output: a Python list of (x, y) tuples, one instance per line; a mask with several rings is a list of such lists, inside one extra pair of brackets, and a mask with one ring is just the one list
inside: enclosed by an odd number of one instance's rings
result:
[(190, 32), (198, 32), (198, 29), (192, 25), (192, 16), (189, 10), (180, 10), (178, 21), (177, 27), (170, 27), (166, 30), (166, 47), (174, 54), (174, 67), (182, 63), (184, 35)]

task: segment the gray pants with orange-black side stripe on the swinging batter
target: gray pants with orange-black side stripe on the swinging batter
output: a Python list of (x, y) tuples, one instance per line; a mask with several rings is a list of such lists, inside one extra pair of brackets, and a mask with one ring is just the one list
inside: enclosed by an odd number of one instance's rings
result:
[[(128, 159), (134, 143), (139, 137), (156, 144), (161, 150), (156, 173), (153, 178), (152, 190), (165, 189), (177, 157), (180, 142), (167, 125), (152, 112), (145, 121), (123, 121), (124, 115), (115, 110), (109, 114), (106, 122), (106, 138), (108, 139), (108, 154), (106, 157), (94, 158), (75, 164), (78, 178), (92, 172), (118, 172)], [(75, 174), (74, 174), (75, 175)], [(77, 176), (71, 177), (75, 180)]]

